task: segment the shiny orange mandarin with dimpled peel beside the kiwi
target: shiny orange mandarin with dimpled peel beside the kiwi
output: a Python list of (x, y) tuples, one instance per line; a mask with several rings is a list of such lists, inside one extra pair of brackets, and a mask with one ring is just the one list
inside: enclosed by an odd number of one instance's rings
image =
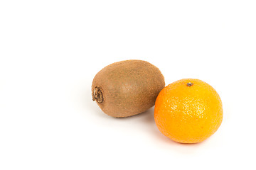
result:
[(213, 135), (223, 120), (220, 96), (199, 79), (181, 79), (161, 90), (154, 119), (166, 137), (181, 143), (198, 143)]

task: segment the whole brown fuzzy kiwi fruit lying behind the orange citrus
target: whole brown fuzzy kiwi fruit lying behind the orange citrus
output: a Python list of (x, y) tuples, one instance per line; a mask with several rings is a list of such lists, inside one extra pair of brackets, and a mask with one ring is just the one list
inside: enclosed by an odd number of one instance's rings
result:
[(137, 115), (154, 106), (164, 89), (164, 76), (142, 60), (115, 62), (98, 72), (92, 81), (92, 100), (115, 118)]

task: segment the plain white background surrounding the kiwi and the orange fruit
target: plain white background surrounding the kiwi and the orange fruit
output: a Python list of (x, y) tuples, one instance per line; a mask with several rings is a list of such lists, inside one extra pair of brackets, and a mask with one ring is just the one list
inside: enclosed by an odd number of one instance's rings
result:
[[(0, 169), (255, 169), (255, 0), (0, 1)], [(121, 60), (196, 78), (223, 101), (223, 124), (182, 145), (154, 108), (111, 118), (92, 79)]]

